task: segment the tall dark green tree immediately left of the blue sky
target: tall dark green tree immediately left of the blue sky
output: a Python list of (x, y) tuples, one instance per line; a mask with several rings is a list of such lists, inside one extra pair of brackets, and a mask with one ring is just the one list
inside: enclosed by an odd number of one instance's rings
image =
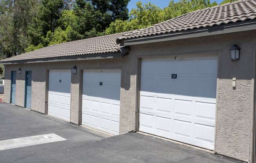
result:
[(74, 6), (78, 16), (78, 33), (84, 38), (102, 35), (116, 19), (127, 20), (130, 0), (77, 0)]

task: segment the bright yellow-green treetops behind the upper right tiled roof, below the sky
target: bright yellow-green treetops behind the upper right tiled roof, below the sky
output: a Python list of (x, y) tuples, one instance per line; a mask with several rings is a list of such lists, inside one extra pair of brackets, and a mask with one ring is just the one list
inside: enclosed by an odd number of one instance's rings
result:
[(210, 0), (180, 0), (178, 2), (171, 0), (164, 9), (160, 9), (151, 3), (142, 5), (141, 2), (137, 2), (136, 5), (137, 8), (132, 9), (128, 20), (115, 20), (106, 29), (106, 34), (141, 29), (197, 9), (212, 7), (218, 4), (216, 2), (211, 3)]

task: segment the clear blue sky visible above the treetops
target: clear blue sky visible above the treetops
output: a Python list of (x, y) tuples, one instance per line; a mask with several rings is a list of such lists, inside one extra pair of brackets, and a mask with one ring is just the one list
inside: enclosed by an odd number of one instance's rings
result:
[[(141, 1), (142, 4), (151, 2), (151, 4), (157, 5), (158, 7), (162, 8), (162, 9), (164, 7), (166, 7), (170, 2), (170, 0), (131, 0), (128, 4), (129, 11), (131, 11), (132, 8), (136, 8), (136, 3), (139, 1)], [(174, 1), (177, 1), (177, 0), (174, 0)], [(222, 2), (222, 0), (215, 0), (215, 1), (217, 3)], [(211, 0), (211, 2), (214, 2), (214, 0)]]

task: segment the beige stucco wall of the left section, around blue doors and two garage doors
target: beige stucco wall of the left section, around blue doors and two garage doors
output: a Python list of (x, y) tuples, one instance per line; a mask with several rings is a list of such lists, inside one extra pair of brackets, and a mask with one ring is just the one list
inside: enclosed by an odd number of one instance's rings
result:
[[(102, 60), (86, 60), (86, 61), (69, 61), (69, 62), (48, 62), (48, 63), (29, 63), (5, 65), (5, 102), (10, 103), (10, 84), (11, 71), (16, 71), (16, 105), (24, 107), (25, 94), (25, 71), (32, 70), (32, 96), (31, 110), (41, 113), (45, 112), (45, 91), (46, 91), (46, 70), (47, 69), (71, 69), (77, 66), (77, 74), (71, 76), (71, 115), (70, 121), (78, 124), (79, 111), (79, 76), (80, 69), (90, 68), (121, 68), (121, 101), (125, 101), (120, 105), (120, 133), (133, 130), (134, 126), (134, 110), (135, 85), (131, 84), (135, 80), (135, 74), (132, 74), (135, 67), (130, 66), (130, 60), (124, 58), (102, 59)], [(133, 58), (134, 59), (134, 58)], [(22, 73), (18, 74), (18, 69), (22, 69)], [(129, 97), (128, 97), (129, 96)], [(128, 98), (126, 98), (128, 97)], [(8, 100), (7, 100), (8, 99)], [(133, 109), (132, 109), (133, 108)]]

